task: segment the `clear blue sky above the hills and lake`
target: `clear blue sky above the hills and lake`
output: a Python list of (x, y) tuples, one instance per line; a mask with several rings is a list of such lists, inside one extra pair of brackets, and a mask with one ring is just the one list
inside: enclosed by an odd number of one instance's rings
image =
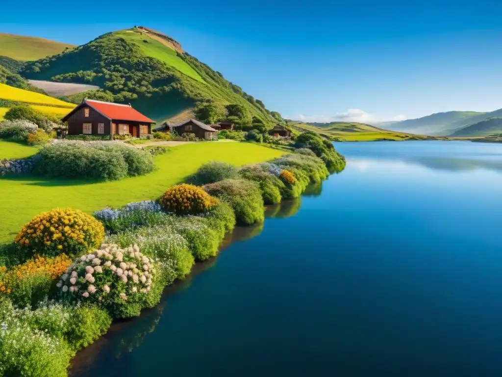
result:
[(43, 3), (3, 4), (0, 32), (82, 44), (151, 27), (291, 118), (502, 108), (499, 0)]

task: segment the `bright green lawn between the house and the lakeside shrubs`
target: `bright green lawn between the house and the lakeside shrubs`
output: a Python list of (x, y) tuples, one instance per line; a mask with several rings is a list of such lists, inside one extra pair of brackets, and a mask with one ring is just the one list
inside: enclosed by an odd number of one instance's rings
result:
[(110, 182), (31, 175), (0, 177), (0, 242), (11, 241), (25, 223), (52, 208), (71, 207), (91, 213), (106, 206), (156, 199), (167, 187), (190, 176), (203, 162), (219, 160), (243, 165), (283, 153), (256, 144), (201, 142), (169, 148), (166, 154), (155, 158), (158, 169), (141, 177)]

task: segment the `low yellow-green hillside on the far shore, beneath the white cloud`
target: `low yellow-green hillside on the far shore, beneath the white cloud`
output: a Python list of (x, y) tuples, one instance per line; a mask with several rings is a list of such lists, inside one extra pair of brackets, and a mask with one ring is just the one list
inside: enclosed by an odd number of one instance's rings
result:
[(294, 130), (300, 132), (313, 131), (327, 139), (337, 141), (422, 140), (427, 138), (422, 135), (388, 131), (356, 122), (318, 123), (322, 125), (322, 127), (315, 126), (312, 123), (307, 124), (298, 121), (288, 121), (288, 124)]

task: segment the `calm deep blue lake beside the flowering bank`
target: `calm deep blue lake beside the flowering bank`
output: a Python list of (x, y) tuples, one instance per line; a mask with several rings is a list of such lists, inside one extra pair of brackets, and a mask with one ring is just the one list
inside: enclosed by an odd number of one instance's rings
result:
[(238, 229), (72, 375), (502, 375), (502, 144), (335, 147), (345, 171)]

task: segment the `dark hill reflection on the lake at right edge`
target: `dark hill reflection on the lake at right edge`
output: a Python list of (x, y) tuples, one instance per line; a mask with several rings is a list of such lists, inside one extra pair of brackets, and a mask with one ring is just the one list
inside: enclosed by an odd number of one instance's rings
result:
[(406, 160), (406, 162), (422, 165), (434, 170), (462, 171), (487, 169), (502, 172), (502, 160), (497, 161), (474, 158), (420, 157)]

